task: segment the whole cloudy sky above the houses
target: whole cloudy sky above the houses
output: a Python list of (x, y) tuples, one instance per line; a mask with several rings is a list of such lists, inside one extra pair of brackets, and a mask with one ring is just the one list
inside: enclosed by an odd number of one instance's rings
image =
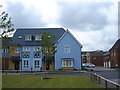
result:
[(82, 51), (109, 50), (118, 39), (117, 0), (1, 0), (17, 28), (64, 28)]

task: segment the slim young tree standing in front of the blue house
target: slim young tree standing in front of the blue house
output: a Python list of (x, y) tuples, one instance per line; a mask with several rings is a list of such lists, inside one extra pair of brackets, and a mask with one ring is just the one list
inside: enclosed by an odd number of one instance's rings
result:
[(50, 33), (43, 32), (42, 33), (42, 40), (40, 44), (42, 45), (42, 54), (45, 56), (45, 72), (46, 72), (46, 60), (49, 57), (53, 57), (56, 52), (56, 46), (55, 46), (55, 37), (53, 35), (50, 35)]

